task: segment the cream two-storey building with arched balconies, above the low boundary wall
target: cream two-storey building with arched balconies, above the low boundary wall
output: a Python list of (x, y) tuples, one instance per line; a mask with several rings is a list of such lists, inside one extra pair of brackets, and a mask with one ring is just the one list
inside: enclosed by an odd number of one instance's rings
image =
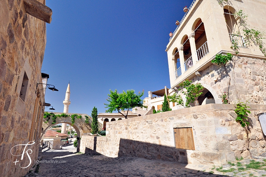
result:
[[(265, 7), (266, 2), (262, 0), (229, 0), (228, 3), (194, 0), (166, 47), (169, 94), (180, 92), (179, 84), (189, 79), (204, 87), (198, 98), (200, 105), (206, 97), (214, 99), (210, 103), (221, 104), (224, 92), (231, 104), (238, 99), (266, 104), (265, 52), (254, 43), (255, 38), (245, 36), (244, 32), (245, 29), (265, 30)], [(261, 39), (261, 42), (266, 41)], [(264, 44), (262, 50), (265, 47)], [(227, 53), (233, 54), (233, 58), (226, 66), (212, 64), (216, 54)]]

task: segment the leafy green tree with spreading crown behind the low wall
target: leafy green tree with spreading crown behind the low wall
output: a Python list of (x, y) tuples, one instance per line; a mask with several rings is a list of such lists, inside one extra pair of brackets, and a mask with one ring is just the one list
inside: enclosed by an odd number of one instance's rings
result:
[[(105, 112), (112, 113), (113, 111), (118, 111), (127, 119), (127, 114), (130, 109), (133, 107), (144, 107), (143, 102), (140, 99), (144, 94), (144, 90), (139, 92), (139, 94), (135, 94), (135, 90), (127, 90), (127, 92), (123, 91), (122, 93), (118, 93), (117, 90), (113, 92), (110, 89), (110, 94), (108, 94), (108, 99), (106, 99), (109, 104), (105, 104), (108, 108)], [(120, 112), (120, 111), (123, 111)]]

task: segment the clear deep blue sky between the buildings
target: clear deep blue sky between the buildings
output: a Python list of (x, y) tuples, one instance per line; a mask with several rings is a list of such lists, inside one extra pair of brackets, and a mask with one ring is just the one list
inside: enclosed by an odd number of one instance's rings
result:
[(59, 90), (47, 89), (46, 103), (63, 112), (68, 81), (68, 112), (88, 115), (94, 106), (105, 112), (109, 89), (144, 89), (144, 99), (148, 91), (169, 88), (168, 34), (191, 2), (46, 1), (53, 15), (46, 24), (42, 72)]

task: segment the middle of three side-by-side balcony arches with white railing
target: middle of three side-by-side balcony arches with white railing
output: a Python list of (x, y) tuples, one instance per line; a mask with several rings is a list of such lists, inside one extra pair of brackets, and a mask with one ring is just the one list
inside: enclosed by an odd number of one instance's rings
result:
[(183, 45), (183, 55), (184, 55), (184, 66), (185, 66), (185, 71), (188, 70), (190, 67), (193, 66), (193, 62), (192, 62), (192, 53), (191, 53), (191, 48), (190, 48), (190, 42), (188, 39), (188, 36), (184, 36), (183, 37), (183, 41), (182, 41), (182, 45)]

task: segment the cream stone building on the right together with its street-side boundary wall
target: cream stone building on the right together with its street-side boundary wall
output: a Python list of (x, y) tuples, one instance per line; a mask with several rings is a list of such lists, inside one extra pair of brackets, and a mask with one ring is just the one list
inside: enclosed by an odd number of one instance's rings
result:
[[(264, 0), (194, 0), (166, 48), (168, 93), (180, 94), (186, 79), (201, 83), (200, 106), (107, 122), (106, 137), (83, 136), (80, 151), (212, 165), (265, 153), (258, 116), (266, 112), (266, 41), (250, 34), (264, 31), (265, 8)], [(233, 57), (225, 66), (212, 64), (227, 53)], [(230, 104), (222, 104), (224, 92)], [(235, 121), (238, 100), (251, 103), (248, 128)]]

